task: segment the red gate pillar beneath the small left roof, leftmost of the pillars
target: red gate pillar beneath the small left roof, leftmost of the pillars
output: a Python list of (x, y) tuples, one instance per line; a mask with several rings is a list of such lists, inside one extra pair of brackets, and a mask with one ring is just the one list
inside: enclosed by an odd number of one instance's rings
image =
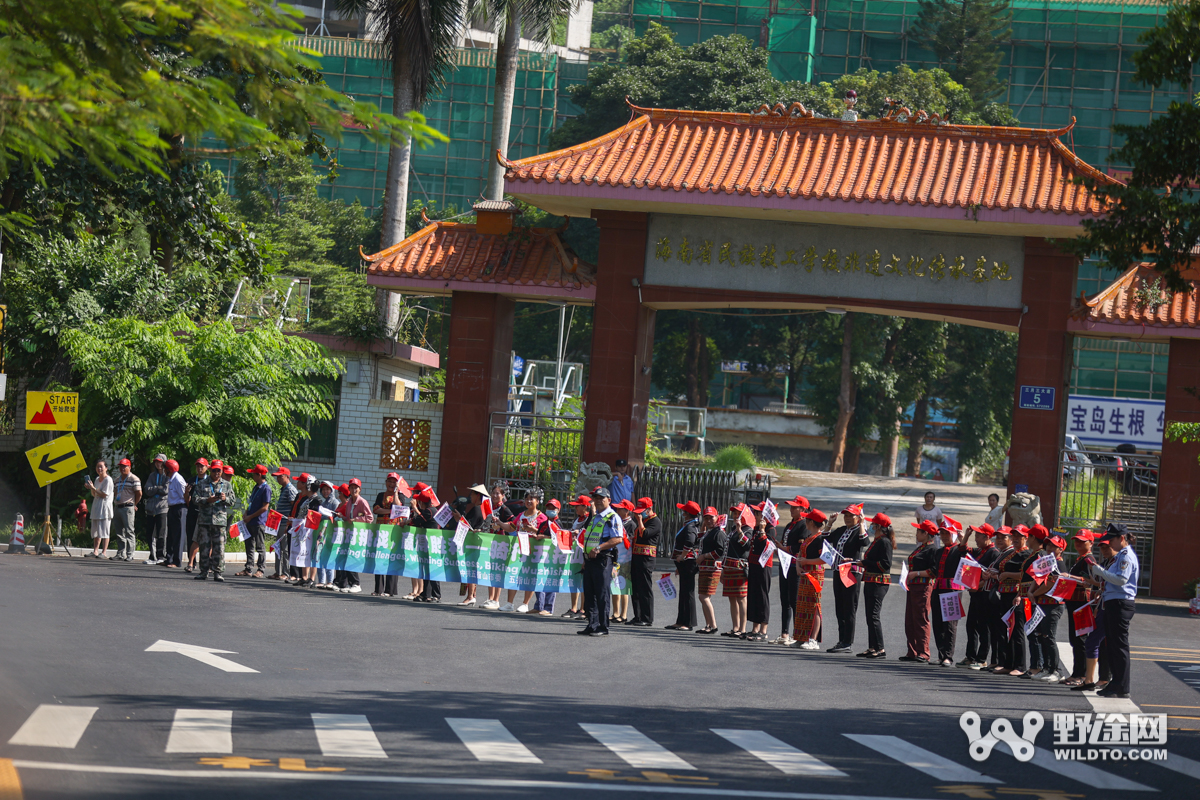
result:
[(515, 308), (516, 302), (504, 295), (451, 295), (438, 459), (440, 494), (449, 494), (455, 486), (463, 494), (487, 476), (491, 415), (508, 409)]

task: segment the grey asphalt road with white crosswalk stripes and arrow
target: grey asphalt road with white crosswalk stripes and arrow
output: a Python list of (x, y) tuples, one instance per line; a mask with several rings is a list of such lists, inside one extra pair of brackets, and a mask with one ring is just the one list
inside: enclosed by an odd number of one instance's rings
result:
[[(1021, 763), (1007, 745), (976, 762), (965, 710), (985, 728), (1043, 711), (1049, 751), (1049, 714), (1092, 700), (898, 663), (898, 588), (883, 662), (664, 631), (661, 601), (659, 627), (593, 639), (558, 618), (188, 578), (0, 557), (0, 798), (20, 796), (14, 781), (26, 798), (173, 799), (1104, 800), (1200, 786), (1200, 669), (1182, 672), (1200, 666), (1200, 622), (1176, 607), (1147, 603), (1134, 625), (1134, 699), (1171, 715), (1166, 765)], [(160, 640), (257, 672), (146, 651)]]

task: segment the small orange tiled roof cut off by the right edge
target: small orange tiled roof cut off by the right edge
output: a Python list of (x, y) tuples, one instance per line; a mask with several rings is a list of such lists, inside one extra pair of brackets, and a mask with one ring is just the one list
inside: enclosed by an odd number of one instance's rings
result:
[[(1200, 271), (1192, 269), (1190, 291), (1162, 291), (1166, 302), (1157, 306), (1144, 305), (1139, 289), (1145, 289), (1159, 277), (1151, 264), (1138, 264), (1092, 297), (1084, 299), (1075, 307), (1073, 317), (1085, 323), (1121, 325), (1146, 329), (1196, 329), (1200, 331)], [(1086, 329), (1085, 329), (1086, 330)]]

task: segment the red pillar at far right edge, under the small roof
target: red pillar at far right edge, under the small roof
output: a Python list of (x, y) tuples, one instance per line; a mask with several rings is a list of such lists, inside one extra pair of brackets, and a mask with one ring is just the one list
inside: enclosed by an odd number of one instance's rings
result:
[[(1166, 367), (1166, 422), (1200, 422), (1200, 339), (1171, 339)], [(1183, 584), (1200, 576), (1200, 444), (1163, 439), (1158, 467), (1158, 517), (1154, 521), (1154, 565), (1150, 594), (1183, 597)]]

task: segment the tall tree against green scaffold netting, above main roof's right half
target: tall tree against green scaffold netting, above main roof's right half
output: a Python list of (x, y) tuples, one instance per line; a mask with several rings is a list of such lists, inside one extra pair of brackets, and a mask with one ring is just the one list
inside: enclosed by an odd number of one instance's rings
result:
[(932, 50), (938, 66), (962, 84), (979, 103), (1004, 94), (997, 73), (1001, 48), (1013, 36), (1008, 0), (918, 0), (920, 11), (912, 40)]

